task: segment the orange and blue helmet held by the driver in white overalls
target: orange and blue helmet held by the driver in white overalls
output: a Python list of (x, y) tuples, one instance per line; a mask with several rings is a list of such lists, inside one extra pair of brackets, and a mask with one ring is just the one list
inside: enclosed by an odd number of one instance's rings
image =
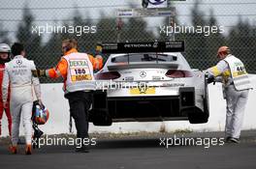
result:
[(33, 103), (32, 120), (37, 125), (45, 125), (48, 122), (49, 112), (45, 105), (40, 105), (38, 101)]

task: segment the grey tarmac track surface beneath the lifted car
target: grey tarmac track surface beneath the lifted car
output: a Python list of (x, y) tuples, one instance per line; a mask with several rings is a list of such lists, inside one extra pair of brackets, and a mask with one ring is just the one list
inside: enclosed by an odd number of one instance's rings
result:
[[(0, 168), (22, 169), (255, 169), (256, 131), (242, 132), (240, 144), (223, 146), (160, 146), (160, 137), (99, 139), (90, 153), (75, 153), (70, 146), (45, 146), (24, 155), (24, 146), (18, 155), (10, 155), (7, 146), (0, 147)], [(218, 137), (223, 133), (190, 133), (185, 137)], [(174, 135), (161, 135), (173, 137)], [(179, 135), (180, 136), (180, 135)]]

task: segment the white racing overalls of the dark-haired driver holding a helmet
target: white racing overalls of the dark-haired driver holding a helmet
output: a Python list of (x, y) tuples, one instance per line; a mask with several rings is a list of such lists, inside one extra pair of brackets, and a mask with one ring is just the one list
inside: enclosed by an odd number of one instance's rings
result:
[(26, 144), (31, 144), (32, 123), (31, 113), (33, 106), (33, 89), (37, 99), (41, 99), (40, 83), (33, 77), (31, 70), (36, 70), (33, 61), (17, 55), (11, 62), (6, 63), (3, 78), (3, 101), (7, 100), (8, 87), (11, 85), (10, 108), (12, 112), (12, 144), (16, 146), (19, 134), (20, 117), (23, 121)]

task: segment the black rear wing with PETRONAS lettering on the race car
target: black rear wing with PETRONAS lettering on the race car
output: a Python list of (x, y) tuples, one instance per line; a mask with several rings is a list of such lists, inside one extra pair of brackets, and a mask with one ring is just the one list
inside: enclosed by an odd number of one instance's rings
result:
[(183, 52), (184, 42), (103, 42), (103, 53)]

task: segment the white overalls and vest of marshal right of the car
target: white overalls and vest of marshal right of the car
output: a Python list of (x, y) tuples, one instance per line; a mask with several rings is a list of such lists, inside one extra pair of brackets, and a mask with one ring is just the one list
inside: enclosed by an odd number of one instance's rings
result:
[(244, 65), (240, 59), (230, 54), (216, 66), (208, 69), (208, 73), (222, 77), (223, 95), (227, 102), (226, 137), (240, 138), (248, 90), (251, 89)]

